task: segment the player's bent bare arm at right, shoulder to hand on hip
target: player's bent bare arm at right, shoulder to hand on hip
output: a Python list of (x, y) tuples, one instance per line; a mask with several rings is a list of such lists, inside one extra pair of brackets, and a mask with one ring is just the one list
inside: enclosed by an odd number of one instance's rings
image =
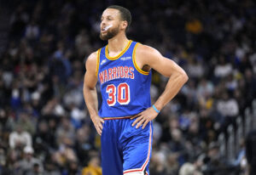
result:
[[(183, 84), (188, 81), (189, 77), (186, 72), (171, 59), (167, 59), (160, 54), (156, 49), (146, 45), (138, 45), (136, 51), (137, 65), (142, 68), (143, 65), (148, 65), (161, 75), (169, 77), (166, 83), (166, 88), (160, 97), (154, 103), (157, 110), (161, 110), (167, 103), (169, 103), (183, 87)], [(143, 128), (147, 126), (149, 121), (152, 121), (158, 113), (151, 106), (147, 110), (133, 116), (137, 119), (132, 123), (132, 126), (137, 125)]]

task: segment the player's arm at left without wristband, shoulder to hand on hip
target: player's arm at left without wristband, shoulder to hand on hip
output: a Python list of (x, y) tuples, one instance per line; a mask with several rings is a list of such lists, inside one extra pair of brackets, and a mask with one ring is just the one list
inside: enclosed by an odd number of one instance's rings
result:
[(90, 119), (96, 127), (97, 133), (102, 135), (102, 123), (104, 123), (104, 121), (100, 116), (98, 116), (98, 99), (96, 93), (96, 59), (97, 53), (95, 52), (90, 54), (86, 60), (83, 92), (84, 101), (90, 113)]

